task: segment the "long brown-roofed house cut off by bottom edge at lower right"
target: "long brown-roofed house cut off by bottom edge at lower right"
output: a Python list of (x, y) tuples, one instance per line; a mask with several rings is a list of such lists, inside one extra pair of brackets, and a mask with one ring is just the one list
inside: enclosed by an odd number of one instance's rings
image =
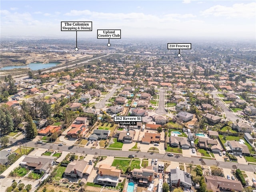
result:
[(226, 179), (220, 176), (204, 176), (204, 178), (208, 191), (244, 191), (244, 187), (239, 180)]

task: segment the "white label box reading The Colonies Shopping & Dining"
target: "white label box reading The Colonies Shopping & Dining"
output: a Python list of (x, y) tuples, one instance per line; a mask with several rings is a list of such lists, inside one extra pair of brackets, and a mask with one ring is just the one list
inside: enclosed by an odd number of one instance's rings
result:
[(92, 21), (62, 21), (61, 31), (92, 31)]

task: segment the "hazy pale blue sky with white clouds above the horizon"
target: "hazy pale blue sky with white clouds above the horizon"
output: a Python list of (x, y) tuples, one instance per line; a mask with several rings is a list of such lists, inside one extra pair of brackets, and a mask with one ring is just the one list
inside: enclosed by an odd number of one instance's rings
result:
[(0, 36), (74, 37), (61, 21), (92, 21), (97, 29), (121, 29), (127, 38), (256, 38), (255, 0), (30, 0), (0, 1)]

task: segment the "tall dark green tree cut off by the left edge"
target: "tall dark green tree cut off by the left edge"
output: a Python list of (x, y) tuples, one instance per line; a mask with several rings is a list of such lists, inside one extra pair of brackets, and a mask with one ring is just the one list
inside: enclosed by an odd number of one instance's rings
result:
[(13, 130), (12, 116), (4, 105), (0, 106), (0, 129), (4, 134)]

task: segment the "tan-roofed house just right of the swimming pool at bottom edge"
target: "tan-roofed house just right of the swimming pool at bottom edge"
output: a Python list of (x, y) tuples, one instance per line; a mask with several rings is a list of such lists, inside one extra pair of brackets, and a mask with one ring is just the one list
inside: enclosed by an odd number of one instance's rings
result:
[(158, 175), (157, 166), (147, 166), (146, 168), (132, 170), (132, 178), (139, 180), (142, 185), (148, 184), (148, 182), (154, 181)]

